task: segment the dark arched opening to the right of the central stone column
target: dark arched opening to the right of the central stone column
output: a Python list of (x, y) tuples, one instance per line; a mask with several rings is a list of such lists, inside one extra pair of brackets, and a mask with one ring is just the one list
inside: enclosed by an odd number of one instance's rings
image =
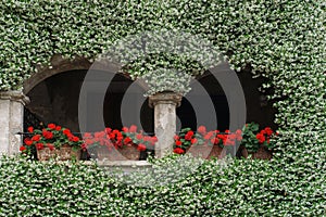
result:
[[(259, 87), (264, 82), (263, 78), (252, 78), (252, 75), (248, 71), (237, 73), (239, 81), (242, 86), (242, 90), (246, 99), (247, 119), (246, 123), (258, 123), (260, 126), (269, 126), (276, 128), (274, 124), (274, 117), (276, 114), (275, 108), (272, 106), (272, 102), (267, 101), (266, 95), (259, 91)], [(217, 79), (210, 72), (206, 72), (203, 76), (197, 78), (199, 86), (203, 87), (206, 92), (197, 91), (197, 87), (192, 87), (192, 90), (183, 98), (180, 107), (177, 108), (177, 129), (190, 127), (196, 130), (198, 126), (204, 125), (208, 129), (226, 130), (229, 128), (229, 106), (226, 94), (221, 87)], [(193, 107), (192, 102), (205, 106), (204, 98), (210, 98), (213, 104), (214, 113), (210, 113), (198, 119), (198, 107)], [(190, 102), (188, 99), (191, 99)], [(208, 100), (208, 99), (206, 99)], [(203, 102), (203, 103), (200, 103)], [(213, 114), (213, 115), (212, 115)], [(216, 117), (216, 119), (212, 119)]]

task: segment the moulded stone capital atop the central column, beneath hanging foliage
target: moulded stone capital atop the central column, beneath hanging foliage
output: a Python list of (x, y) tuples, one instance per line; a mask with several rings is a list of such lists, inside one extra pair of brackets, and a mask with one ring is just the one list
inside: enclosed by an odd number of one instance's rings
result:
[(159, 92), (149, 97), (149, 106), (154, 107), (156, 104), (174, 104), (180, 106), (183, 95), (176, 92)]

